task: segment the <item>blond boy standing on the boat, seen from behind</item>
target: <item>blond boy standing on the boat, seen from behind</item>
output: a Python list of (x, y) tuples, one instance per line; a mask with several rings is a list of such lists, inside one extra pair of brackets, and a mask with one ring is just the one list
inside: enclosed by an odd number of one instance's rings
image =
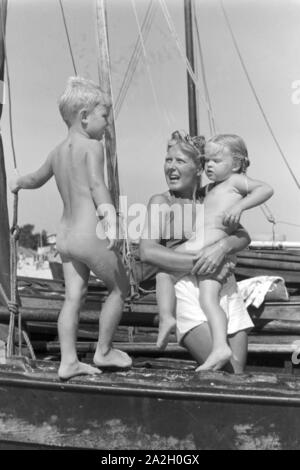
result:
[[(108, 125), (110, 102), (90, 80), (71, 77), (59, 99), (59, 110), (68, 134), (50, 153), (39, 170), (11, 181), (12, 192), (35, 189), (55, 177), (63, 201), (57, 231), (57, 249), (63, 262), (65, 301), (58, 319), (61, 347), (59, 377), (69, 379), (99, 369), (79, 362), (76, 337), (81, 306), (85, 300), (90, 271), (109, 292), (99, 319), (99, 338), (94, 363), (97, 367), (131, 366), (123, 351), (112, 347), (129, 283), (117, 253), (116, 218), (102, 213), (101, 205), (112, 205), (104, 182), (104, 149), (101, 139)], [(97, 217), (96, 209), (100, 217)], [(106, 231), (108, 229), (108, 232)], [(106, 234), (109, 233), (109, 237)]]

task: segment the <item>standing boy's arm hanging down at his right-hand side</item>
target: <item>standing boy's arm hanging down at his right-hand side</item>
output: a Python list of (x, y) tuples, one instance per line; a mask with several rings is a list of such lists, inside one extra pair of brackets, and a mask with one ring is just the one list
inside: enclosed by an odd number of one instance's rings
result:
[(91, 196), (109, 239), (108, 250), (118, 245), (118, 223), (110, 192), (104, 181), (104, 150), (102, 143), (91, 140), (86, 153), (88, 184)]

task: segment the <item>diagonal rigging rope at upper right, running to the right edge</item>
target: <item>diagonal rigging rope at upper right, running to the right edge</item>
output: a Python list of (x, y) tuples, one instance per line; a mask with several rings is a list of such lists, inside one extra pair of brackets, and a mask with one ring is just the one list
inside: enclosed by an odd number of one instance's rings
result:
[(260, 100), (259, 100), (259, 98), (258, 98), (258, 95), (257, 95), (256, 91), (255, 91), (254, 85), (253, 85), (253, 83), (252, 83), (252, 81), (251, 81), (250, 75), (249, 75), (248, 70), (247, 70), (247, 68), (246, 68), (246, 65), (245, 65), (245, 62), (244, 62), (244, 60), (243, 60), (242, 54), (241, 54), (241, 52), (240, 52), (239, 46), (238, 46), (238, 44), (237, 44), (235, 35), (234, 35), (233, 30), (232, 30), (232, 28), (231, 28), (231, 24), (230, 24), (228, 15), (227, 15), (227, 13), (226, 13), (223, 0), (220, 0), (220, 3), (221, 3), (221, 8), (222, 8), (222, 11), (223, 11), (223, 14), (224, 14), (224, 18), (225, 18), (227, 27), (228, 27), (228, 29), (229, 29), (229, 32), (230, 32), (230, 35), (231, 35), (231, 38), (232, 38), (232, 41), (233, 41), (233, 44), (234, 44), (235, 50), (236, 50), (237, 55), (238, 55), (238, 57), (239, 57), (239, 59), (240, 59), (241, 66), (242, 66), (242, 68), (243, 68), (243, 70), (244, 70), (244, 72), (245, 72), (246, 78), (247, 78), (247, 80), (248, 80), (248, 84), (249, 84), (249, 86), (250, 86), (250, 88), (251, 88), (251, 90), (252, 90), (252, 93), (253, 93), (253, 95), (254, 95), (254, 98), (255, 98), (255, 100), (256, 100), (256, 103), (257, 103), (257, 105), (258, 105), (258, 107), (259, 107), (259, 109), (260, 109), (260, 111), (261, 111), (261, 114), (262, 114), (262, 116), (263, 116), (263, 118), (264, 118), (264, 121), (265, 121), (265, 123), (266, 123), (266, 125), (267, 125), (269, 131), (270, 131), (270, 134), (271, 134), (271, 136), (273, 137), (274, 143), (275, 143), (275, 145), (276, 145), (276, 147), (277, 147), (277, 149), (278, 149), (278, 151), (279, 151), (281, 157), (283, 158), (284, 163), (286, 164), (286, 166), (287, 166), (287, 168), (288, 168), (288, 170), (289, 170), (289, 172), (290, 172), (290, 174), (291, 174), (291, 176), (292, 176), (294, 182), (296, 183), (297, 188), (300, 189), (300, 183), (299, 183), (299, 181), (297, 180), (297, 178), (296, 178), (296, 176), (295, 176), (295, 174), (294, 174), (292, 168), (290, 167), (290, 165), (289, 165), (289, 163), (288, 163), (288, 161), (287, 161), (287, 159), (286, 159), (286, 157), (285, 157), (285, 155), (284, 155), (284, 153), (283, 153), (283, 150), (282, 150), (282, 148), (280, 147), (280, 144), (279, 144), (278, 140), (276, 139), (276, 136), (275, 136), (275, 134), (274, 134), (274, 132), (273, 132), (273, 129), (272, 129), (272, 127), (271, 127), (271, 124), (270, 124), (270, 122), (269, 122), (269, 120), (268, 120), (268, 118), (267, 118), (267, 116), (266, 116), (266, 113), (264, 112), (264, 109), (263, 109), (263, 107), (262, 107), (262, 104), (261, 104), (261, 102), (260, 102)]

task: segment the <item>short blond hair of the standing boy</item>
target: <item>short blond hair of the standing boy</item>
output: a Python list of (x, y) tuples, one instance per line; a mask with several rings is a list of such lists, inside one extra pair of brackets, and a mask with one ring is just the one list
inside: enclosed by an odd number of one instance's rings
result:
[(70, 77), (65, 91), (58, 100), (60, 114), (68, 127), (82, 108), (91, 112), (99, 104), (110, 108), (111, 101), (108, 95), (92, 80), (82, 77)]

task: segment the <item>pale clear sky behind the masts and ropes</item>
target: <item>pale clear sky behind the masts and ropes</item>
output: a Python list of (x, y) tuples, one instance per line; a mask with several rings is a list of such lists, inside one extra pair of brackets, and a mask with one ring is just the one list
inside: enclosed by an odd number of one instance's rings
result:
[[(7, 52), (12, 93), (12, 119), (18, 169), (38, 168), (66, 135), (57, 99), (67, 77), (74, 75), (58, 0), (9, 0)], [(170, 35), (160, 4), (145, 54), (140, 58), (116, 120), (121, 192), (129, 204), (147, 203), (166, 189), (163, 161), (166, 142), (175, 129), (188, 130), (186, 69)], [(300, 81), (300, 0), (224, 0), (232, 30), (264, 112), (283, 153), (300, 181), (300, 103), (293, 84)], [(98, 81), (96, 1), (63, 0), (79, 75)], [(111, 75), (118, 95), (149, 0), (108, 0)], [(183, 0), (166, 0), (178, 38), (184, 44)], [(291, 177), (261, 112), (224, 20), (220, 0), (195, 0), (205, 73), (217, 131), (244, 138), (250, 156), (249, 176), (268, 182), (268, 203), (279, 222), (278, 236), (300, 240), (300, 191)], [(197, 42), (197, 71), (203, 87)], [(152, 86), (153, 85), (153, 86)], [(154, 89), (154, 92), (153, 92)], [(7, 95), (7, 93), (6, 93)], [(198, 99), (199, 132), (209, 137), (207, 109)], [(8, 104), (1, 122), (8, 178), (12, 174)], [(9, 207), (12, 198), (8, 195)], [(62, 204), (50, 181), (35, 191), (22, 191), (19, 222), (55, 233)], [(253, 239), (271, 235), (259, 208), (242, 219)], [(281, 222), (285, 222), (284, 224)]]

